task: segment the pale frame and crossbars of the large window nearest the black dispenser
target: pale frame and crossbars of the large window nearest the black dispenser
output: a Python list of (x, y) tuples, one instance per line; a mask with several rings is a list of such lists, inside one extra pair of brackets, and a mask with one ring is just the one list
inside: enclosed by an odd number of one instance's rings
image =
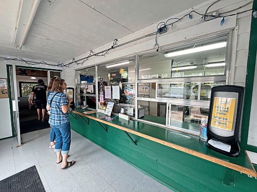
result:
[[(173, 78), (160, 78), (160, 79), (139, 79), (139, 56), (145, 56), (145, 55), (151, 55), (155, 53), (154, 51), (149, 51), (141, 54), (136, 54), (136, 60), (135, 60), (135, 83), (136, 83), (136, 97), (135, 97), (135, 105), (136, 105), (136, 111), (135, 111), (135, 120), (142, 121), (145, 123), (154, 124), (157, 126), (161, 126), (167, 129), (172, 129), (184, 133), (188, 133), (191, 135), (199, 135), (199, 132), (190, 131), (187, 129), (183, 129), (182, 127), (175, 127), (175, 126), (168, 126), (163, 125), (151, 121), (146, 121), (138, 118), (138, 101), (155, 101), (155, 102), (166, 102), (167, 105), (169, 103), (177, 104), (177, 105), (185, 105), (185, 106), (196, 106), (201, 108), (209, 108), (210, 101), (204, 101), (204, 100), (187, 100), (187, 99), (174, 99), (174, 98), (141, 98), (138, 97), (138, 84), (139, 83), (177, 83), (177, 82), (198, 82), (198, 83), (205, 83), (205, 82), (223, 82), (225, 84), (229, 83), (229, 73), (230, 73), (230, 64), (231, 64), (231, 53), (232, 53), (232, 31), (225, 32), (221, 34), (216, 34), (214, 36), (210, 36), (208, 38), (198, 39), (198, 40), (191, 40), (188, 42), (184, 42), (182, 44), (173, 45), (170, 47), (167, 47), (165, 49), (160, 49), (161, 52), (170, 50), (171, 48), (179, 48), (183, 49), (183, 47), (187, 46), (188, 44), (196, 44), (197, 42), (205, 42), (210, 41), (214, 39), (219, 39), (222, 37), (226, 37), (227, 46), (226, 46), (226, 55), (225, 55), (225, 62), (227, 65), (225, 66), (224, 75), (213, 75), (213, 76), (196, 76), (196, 77), (173, 77)], [(166, 112), (168, 114), (168, 112)], [(167, 120), (166, 115), (166, 120)]]

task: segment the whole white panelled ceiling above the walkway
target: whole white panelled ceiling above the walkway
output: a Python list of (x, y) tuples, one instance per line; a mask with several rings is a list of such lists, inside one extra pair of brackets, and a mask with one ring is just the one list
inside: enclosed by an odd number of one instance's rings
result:
[(0, 0), (0, 54), (61, 62), (206, 1), (41, 0), (19, 49), (14, 42), (20, 35), (15, 39), (15, 34), (26, 24), (19, 18), (30, 13), (22, 2), (27, 7), (33, 4), (33, 0)]

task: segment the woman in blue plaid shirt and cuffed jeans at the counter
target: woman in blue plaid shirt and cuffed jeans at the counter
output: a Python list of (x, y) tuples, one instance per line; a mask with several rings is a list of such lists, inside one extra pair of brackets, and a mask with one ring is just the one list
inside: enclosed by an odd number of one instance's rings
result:
[(68, 168), (75, 163), (73, 160), (67, 161), (70, 147), (70, 123), (67, 112), (72, 98), (67, 99), (63, 93), (66, 90), (66, 86), (67, 84), (64, 79), (54, 80), (46, 106), (47, 110), (50, 109), (49, 124), (54, 130), (54, 133), (56, 133), (56, 147), (54, 152), (57, 152), (56, 163), (62, 163), (61, 169)]

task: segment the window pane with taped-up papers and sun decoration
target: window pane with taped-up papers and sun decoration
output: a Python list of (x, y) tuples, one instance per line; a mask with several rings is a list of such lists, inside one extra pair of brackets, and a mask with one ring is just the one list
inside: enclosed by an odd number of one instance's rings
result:
[(114, 102), (113, 113), (135, 117), (135, 73), (131, 76), (133, 72), (128, 72), (134, 66), (134, 58), (98, 66), (99, 110), (105, 110), (107, 102)]

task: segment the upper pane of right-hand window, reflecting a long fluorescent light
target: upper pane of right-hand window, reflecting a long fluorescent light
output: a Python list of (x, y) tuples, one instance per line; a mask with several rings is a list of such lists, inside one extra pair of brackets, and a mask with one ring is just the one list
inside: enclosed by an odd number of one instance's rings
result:
[(225, 75), (226, 37), (139, 56), (139, 79)]

